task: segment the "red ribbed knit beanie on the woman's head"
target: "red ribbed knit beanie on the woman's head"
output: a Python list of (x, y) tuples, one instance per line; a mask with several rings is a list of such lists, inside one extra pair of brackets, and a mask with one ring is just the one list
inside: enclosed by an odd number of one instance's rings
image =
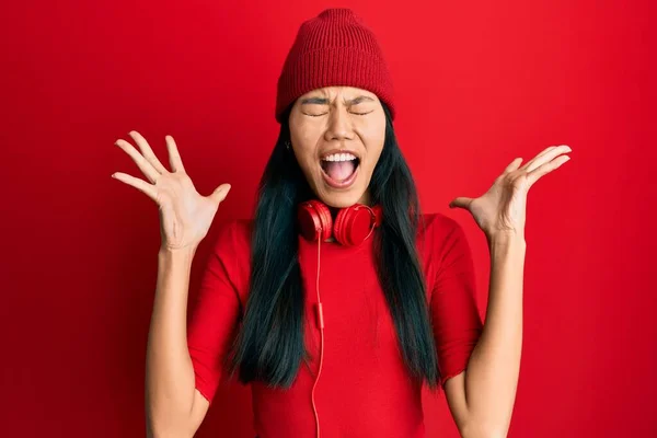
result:
[(393, 89), (372, 31), (347, 8), (332, 8), (301, 24), (278, 78), (276, 120), (300, 95), (322, 87), (374, 93), (394, 119)]

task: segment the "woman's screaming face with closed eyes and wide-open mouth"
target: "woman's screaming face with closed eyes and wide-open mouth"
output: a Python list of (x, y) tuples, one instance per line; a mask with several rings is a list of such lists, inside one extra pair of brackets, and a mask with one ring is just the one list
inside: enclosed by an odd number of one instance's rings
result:
[(320, 200), (331, 207), (368, 204), (368, 186), (385, 139), (374, 93), (326, 87), (301, 95), (290, 117), (295, 157)]

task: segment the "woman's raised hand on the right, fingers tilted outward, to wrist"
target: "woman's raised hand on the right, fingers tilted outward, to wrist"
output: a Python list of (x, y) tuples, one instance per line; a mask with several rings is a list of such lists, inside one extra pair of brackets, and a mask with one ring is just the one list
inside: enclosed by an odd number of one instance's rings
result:
[(572, 152), (567, 145), (551, 146), (521, 168), (522, 159), (517, 158), (495, 178), (488, 192), (474, 199), (458, 197), (449, 207), (469, 210), (488, 239), (500, 233), (525, 238), (527, 193), (541, 176), (568, 161), (567, 152)]

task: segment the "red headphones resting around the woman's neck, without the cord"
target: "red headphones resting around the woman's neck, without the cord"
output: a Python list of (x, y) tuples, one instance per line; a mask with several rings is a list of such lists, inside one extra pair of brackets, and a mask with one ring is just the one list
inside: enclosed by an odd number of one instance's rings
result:
[(369, 207), (364, 204), (342, 208), (333, 223), (331, 210), (318, 199), (299, 205), (297, 219), (301, 234), (309, 241), (322, 242), (331, 235), (345, 246), (362, 243), (381, 224), (381, 206)]

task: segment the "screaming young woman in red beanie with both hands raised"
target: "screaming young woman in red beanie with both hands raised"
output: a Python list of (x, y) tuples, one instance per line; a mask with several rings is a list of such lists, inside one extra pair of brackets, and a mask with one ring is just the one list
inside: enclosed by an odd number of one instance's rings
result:
[(423, 214), (394, 136), (391, 79), (348, 9), (304, 22), (278, 80), (280, 134), (253, 220), (219, 232), (186, 326), (189, 270), (220, 203), (199, 195), (166, 136), (171, 171), (143, 137), (162, 243), (147, 351), (150, 436), (192, 437), (222, 377), (251, 383), (261, 438), (424, 437), (420, 390), (445, 390), (463, 437), (503, 437), (520, 364), (526, 199), (567, 146), (515, 159), (477, 198), (458, 197), (487, 238), (485, 324), (461, 227)]

